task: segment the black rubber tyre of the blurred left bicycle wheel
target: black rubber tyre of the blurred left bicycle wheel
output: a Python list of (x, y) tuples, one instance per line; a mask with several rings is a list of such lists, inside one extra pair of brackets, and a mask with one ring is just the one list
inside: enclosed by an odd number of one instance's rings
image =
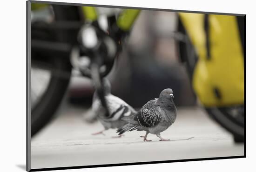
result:
[[(76, 6), (53, 5), (52, 7), (56, 21), (82, 19), (79, 8)], [(78, 30), (72, 32), (61, 30), (55, 33), (55, 40), (74, 44), (77, 33)], [(40, 101), (31, 110), (31, 137), (39, 132), (53, 118), (64, 97), (71, 77), (72, 66), (69, 59), (61, 57), (50, 59), (53, 59), (54, 72), (51, 72), (49, 84), (41, 96)], [(63, 72), (65, 73), (65, 77), (63, 77)]]

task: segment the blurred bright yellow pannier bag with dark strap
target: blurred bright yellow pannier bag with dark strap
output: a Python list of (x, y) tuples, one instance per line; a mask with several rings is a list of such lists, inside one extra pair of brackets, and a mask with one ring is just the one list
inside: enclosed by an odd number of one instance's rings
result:
[(192, 85), (202, 105), (243, 104), (244, 57), (236, 16), (209, 14), (206, 31), (205, 14), (179, 15), (197, 52)]

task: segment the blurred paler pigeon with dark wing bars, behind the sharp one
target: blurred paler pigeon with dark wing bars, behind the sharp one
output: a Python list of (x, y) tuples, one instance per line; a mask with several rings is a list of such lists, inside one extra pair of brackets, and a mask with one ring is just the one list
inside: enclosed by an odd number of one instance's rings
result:
[(105, 89), (105, 98), (109, 110), (109, 116), (106, 115), (106, 110), (101, 105), (101, 101), (97, 93), (95, 92), (93, 97), (92, 111), (97, 116), (97, 119), (104, 126), (104, 130), (102, 130), (101, 132), (93, 133), (93, 135), (104, 134), (103, 132), (105, 130), (108, 130), (109, 128), (119, 128), (121, 126), (124, 126), (128, 122), (121, 120), (121, 118), (128, 117), (132, 113), (136, 113), (133, 107), (129, 106), (122, 99), (111, 94), (111, 85), (108, 79), (103, 79), (103, 86)]

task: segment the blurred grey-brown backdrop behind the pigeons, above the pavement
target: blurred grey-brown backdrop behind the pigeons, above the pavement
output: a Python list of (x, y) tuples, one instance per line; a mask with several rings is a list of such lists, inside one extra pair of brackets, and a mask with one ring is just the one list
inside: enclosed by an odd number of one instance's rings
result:
[[(177, 30), (177, 14), (143, 11), (126, 46), (108, 75), (112, 93), (135, 108), (157, 98), (161, 90), (175, 90), (177, 106), (195, 106), (185, 66), (180, 62), (172, 33)], [(90, 106), (94, 93), (90, 80), (72, 77), (67, 91), (71, 104)], [(136, 99), (134, 98), (135, 95)], [(177, 97), (177, 98), (176, 98)]]

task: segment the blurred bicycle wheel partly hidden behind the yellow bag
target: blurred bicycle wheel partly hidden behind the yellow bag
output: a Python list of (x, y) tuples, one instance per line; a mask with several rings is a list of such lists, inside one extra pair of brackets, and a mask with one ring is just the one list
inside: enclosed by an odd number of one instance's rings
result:
[[(181, 20), (178, 21), (178, 31), (183, 33), (188, 39), (187, 42), (179, 42), (179, 54), (182, 62), (186, 63), (190, 80), (192, 80), (194, 67), (197, 62), (197, 54), (189, 40)], [(222, 106), (222, 107), (205, 107), (209, 116), (218, 124), (231, 132), (235, 142), (244, 141), (244, 105)]]

